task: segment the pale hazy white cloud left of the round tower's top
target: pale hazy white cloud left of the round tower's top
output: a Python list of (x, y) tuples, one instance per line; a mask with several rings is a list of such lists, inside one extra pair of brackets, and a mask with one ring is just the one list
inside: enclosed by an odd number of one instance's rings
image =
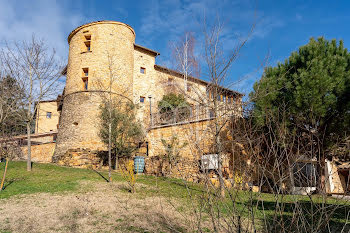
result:
[(52, 0), (0, 0), (0, 6), (1, 43), (28, 40), (35, 35), (55, 48), (62, 60), (67, 59), (68, 33), (82, 22), (82, 16), (69, 15)]

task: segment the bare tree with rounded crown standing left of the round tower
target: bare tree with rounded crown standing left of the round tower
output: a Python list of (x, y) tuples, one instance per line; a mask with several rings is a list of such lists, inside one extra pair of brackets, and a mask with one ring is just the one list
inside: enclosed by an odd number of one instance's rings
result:
[(27, 170), (31, 171), (31, 133), (36, 112), (35, 103), (53, 96), (61, 77), (62, 66), (55, 50), (50, 50), (43, 40), (32, 36), (31, 40), (6, 44), (1, 50), (5, 73), (16, 79), (24, 92), (26, 116), (23, 121), (27, 128)]

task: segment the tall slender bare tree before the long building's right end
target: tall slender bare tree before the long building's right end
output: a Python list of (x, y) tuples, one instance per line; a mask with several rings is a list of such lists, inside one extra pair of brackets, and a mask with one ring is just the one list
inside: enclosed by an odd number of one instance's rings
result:
[(210, 85), (207, 87), (207, 93), (209, 93), (209, 96), (207, 96), (203, 104), (207, 105), (213, 114), (212, 134), (214, 150), (218, 156), (217, 172), (219, 175), (221, 196), (225, 195), (222, 175), (222, 157), (224, 145), (221, 139), (221, 133), (224, 127), (227, 125), (227, 116), (231, 115), (232, 111), (234, 111), (232, 106), (234, 108), (238, 107), (232, 103), (229, 111), (222, 111), (226, 105), (224, 100), (226, 90), (223, 87), (225, 86), (225, 81), (229, 74), (230, 68), (238, 58), (241, 49), (248, 41), (248, 38), (254, 29), (254, 25), (250, 29), (249, 34), (240, 39), (237, 45), (228, 52), (223, 50), (223, 29), (224, 25), (219, 19), (217, 19), (217, 21), (211, 27), (208, 27), (207, 23), (204, 22), (204, 62), (207, 79), (209, 80)]

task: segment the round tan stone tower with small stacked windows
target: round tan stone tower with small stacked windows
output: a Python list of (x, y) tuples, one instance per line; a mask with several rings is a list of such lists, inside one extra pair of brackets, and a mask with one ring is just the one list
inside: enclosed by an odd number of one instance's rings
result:
[(99, 138), (100, 105), (109, 90), (119, 98), (132, 99), (134, 42), (134, 30), (115, 21), (88, 23), (69, 34), (54, 161), (68, 149), (104, 148)]

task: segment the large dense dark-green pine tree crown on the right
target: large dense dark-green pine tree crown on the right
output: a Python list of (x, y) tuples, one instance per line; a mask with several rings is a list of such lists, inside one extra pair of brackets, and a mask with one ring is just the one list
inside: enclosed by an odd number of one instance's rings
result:
[(254, 84), (254, 117), (264, 125), (273, 114), (291, 131), (325, 135), (327, 144), (343, 138), (350, 132), (349, 75), (350, 53), (342, 40), (311, 38)]

